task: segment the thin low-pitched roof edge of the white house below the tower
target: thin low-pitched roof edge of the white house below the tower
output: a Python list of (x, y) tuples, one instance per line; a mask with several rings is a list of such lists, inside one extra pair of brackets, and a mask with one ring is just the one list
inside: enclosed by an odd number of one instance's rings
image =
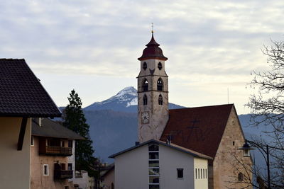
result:
[(171, 149), (175, 149), (175, 150), (178, 150), (178, 151), (182, 151), (182, 152), (185, 152), (186, 154), (190, 154), (190, 155), (192, 155), (192, 156), (199, 157), (199, 158), (202, 158), (202, 159), (212, 159), (212, 157), (206, 156), (206, 155), (201, 154), (201, 153), (199, 153), (199, 152), (197, 152), (197, 151), (193, 151), (193, 150), (191, 150), (191, 149), (186, 149), (185, 147), (180, 147), (180, 146), (178, 146), (177, 144), (173, 144), (173, 143), (167, 144), (167, 143), (165, 143), (165, 142), (163, 142), (163, 141), (155, 140), (155, 139), (148, 140), (148, 141), (146, 141), (146, 142), (143, 142), (143, 143), (141, 143), (141, 144), (138, 144), (138, 145), (136, 145), (136, 146), (134, 146), (134, 147), (131, 147), (131, 148), (129, 148), (129, 149), (125, 149), (124, 151), (120, 151), (120, 152), (118, 152), (118, 153), (116, 153), (116, 154), (113, 154), (113, 155), (109, 156), (109, 158), (115, 158), (116, 156), (119, 156), (119, 155), (121, 155), (121, 154), (124, 154), (124, 153), (126, 153), (126, 152), (128, 152), (128, 151), (131, 151), (131, 150), (133, 150), (133, 149), (137, 149), (138, 147), (142, 147), (142, 146), (144, 146), (144, 145), (146, 145), (146, 144), (159, 144), (159, 145), (163, 145), (164, 147), (169, 147), (169, 148), (171, 148)]

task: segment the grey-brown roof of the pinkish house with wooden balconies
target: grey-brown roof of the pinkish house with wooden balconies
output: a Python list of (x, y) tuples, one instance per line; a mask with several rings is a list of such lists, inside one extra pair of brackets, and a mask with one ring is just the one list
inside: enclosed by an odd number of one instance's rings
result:
[(48, 118), (43, 118), (41, 124), (42, 126), (40, 127), (37, 122), (32, 122), (31, 135), (61, 139), (84, 139), (84, 137), (81, 137), (76, 132), (63, 127), (58, 122), (54, 122)]

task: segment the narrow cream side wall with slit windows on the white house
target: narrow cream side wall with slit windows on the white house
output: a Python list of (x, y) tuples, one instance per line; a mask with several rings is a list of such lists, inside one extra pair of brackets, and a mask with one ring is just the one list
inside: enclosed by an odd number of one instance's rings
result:
[[(195, 170), (197, 170), (197, 171), (194, 170), (195, 189), (208, 188), (208, 161), (206, 159), (195, 158), (194, 167)], [(198, 176), (198, 168), (200, 169), (199, 176)]]

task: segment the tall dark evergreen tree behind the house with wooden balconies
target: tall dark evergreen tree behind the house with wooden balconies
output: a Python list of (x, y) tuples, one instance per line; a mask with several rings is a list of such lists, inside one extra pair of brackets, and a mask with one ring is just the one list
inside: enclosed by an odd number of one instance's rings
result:
[(94, 149), (92, 148), (92, 140), (89, 137), (89, 125), (86, 123), (86, 118), (84, 118), (81, 98), (74, 89), (71, 91), (68, 101), (69, 104), (63, 113), (63, 125), (85, 138), (75, 142), (76, 170), (85, 170), (88, 171), (89, 176), (94, 176), (94, 169), (90, 167), (93, 167), (96, 159), (93, 156)]

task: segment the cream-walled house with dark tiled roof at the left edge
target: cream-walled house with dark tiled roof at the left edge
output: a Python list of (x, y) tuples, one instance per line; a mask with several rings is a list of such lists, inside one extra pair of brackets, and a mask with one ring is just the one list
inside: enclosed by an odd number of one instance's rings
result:
[(25, 59), (0, 59), (1, 188), (30, 188), (31, 118), (60, 116)]

